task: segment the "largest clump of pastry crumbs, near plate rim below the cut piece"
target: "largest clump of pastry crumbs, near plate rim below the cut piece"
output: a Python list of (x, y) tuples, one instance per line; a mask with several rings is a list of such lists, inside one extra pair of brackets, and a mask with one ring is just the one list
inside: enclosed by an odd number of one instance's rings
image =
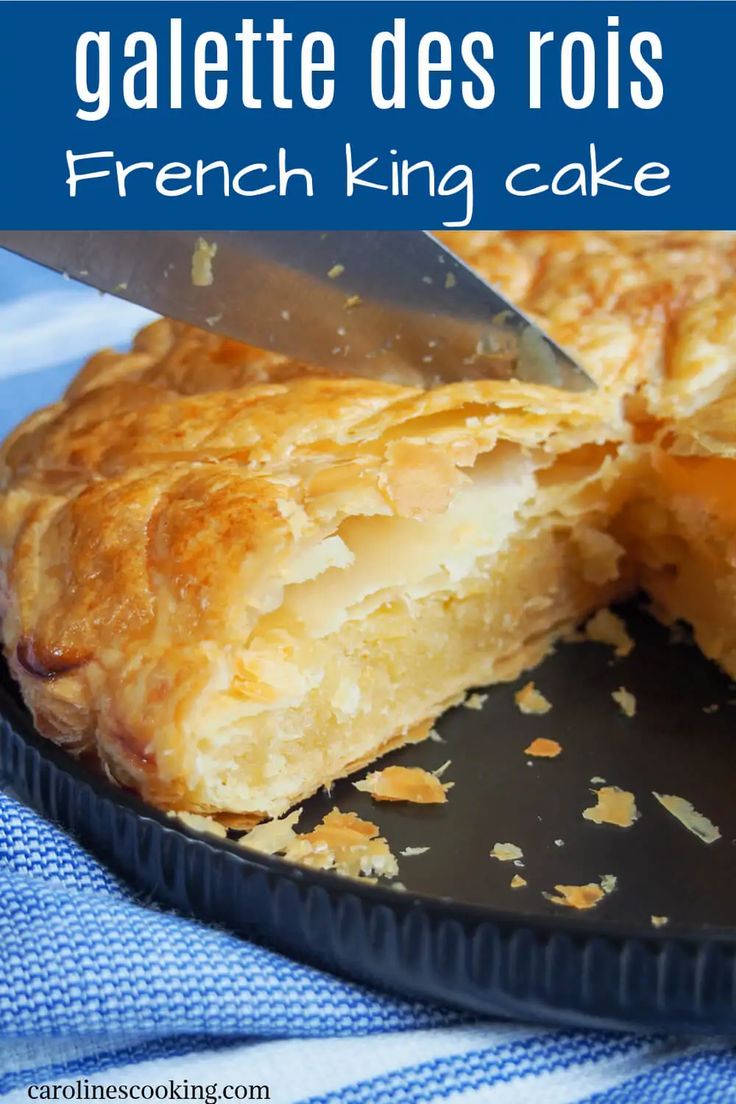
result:
[(334, 870), (352, 878), (395, 878), (398, 863), (378, 828), (356, 813), (334, 808), (303, 835), (296, 836), (284, 857), (317, 870)]

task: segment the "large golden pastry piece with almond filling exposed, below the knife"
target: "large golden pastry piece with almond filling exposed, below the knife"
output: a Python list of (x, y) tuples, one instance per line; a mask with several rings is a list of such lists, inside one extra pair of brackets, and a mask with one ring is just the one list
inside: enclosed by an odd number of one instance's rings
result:
[(605, 396), (271, 363), (160, 322), (0, 454), (35, 723), (163, 808), (278, 816), (631, 585)]

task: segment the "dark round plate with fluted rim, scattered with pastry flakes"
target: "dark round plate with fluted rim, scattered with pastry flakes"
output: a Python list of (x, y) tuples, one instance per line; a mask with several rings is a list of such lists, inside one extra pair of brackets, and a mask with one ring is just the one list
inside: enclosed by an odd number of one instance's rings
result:
[[(494, 687), (482, 711), (442, 719), (445, 743), (384, 761), (435, 768), (451, 760), (447, 805), (375, 805), (349, 781), (306, 803), (302, 827), (337, 805), (375, 820), (396, 854), (428, 847), (399, 857), (405, 890), (300, 869), (180, 826), (43, 740), (7, 670), (0, 781), (145, 898), (327, 969), (500, 1016), (734, 1031), (734, 689), (636, 605), (625, 614), (637, 640), (628, 658), (565, 645), (534, 672), (553, 702), (546, 715), (514, 705), (524, 680)], [(620, 686), (637, 697), (633, 719), (610, 698)], [(523, 750), (537, 735), (559, 741), (563, 754), (530, 761)], [(631, 828), (582, 818), (595, 804), (590, 779), (601, 777), (636, 794)], [(701, 842), (653, 790), (687, 798), (722, 838)], [(522, 847), (523, 869), (489, 857), (497, 841)], [(510, 888), (514, 873), (525, 888)], [(615, 874), (617, 888), (589, 912), (543, 895), (601, 874)], [(668, 925), (653, 927), (652, 915)]]

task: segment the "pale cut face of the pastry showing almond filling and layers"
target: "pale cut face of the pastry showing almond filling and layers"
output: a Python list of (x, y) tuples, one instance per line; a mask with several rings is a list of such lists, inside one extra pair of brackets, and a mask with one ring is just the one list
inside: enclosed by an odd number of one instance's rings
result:
[[(499, 501), (495, 488), (486, 500), (473, 496), (470, 509), (458, 511), (459, 526), (482, 518), (495, 539)], [(605, 511), (605, 496), (597, 506)], [(586, 511), (585, 520), (601, 523), (595, 512)], [(196, 749), (198, 734), (205, 733), (206, 755), (186, 775), (172, 777), (179, 807), (183, 800), (203, 813), (258, 809), (279, 816), (320, 786), (413, 742), (417, 733), (428, 734), (431, 722), (469, 686), (510, 680), (535, 666), (554, 639), (600, 599), (600, 585), (585, 581), (574, 523), (565, 530), (559, 522), (552, 528), (535, 519), (532, 538), (520, 526), (508, 545), (481, 545), (483, 555), (455, 572), (438, 573), (433, 564), (424, 576), (415, 571), (423, 549), (410, 533), (404, 567), (409, 582), (396, 574), (401, 542), (388, 534), (376, 546), (374, 523), (349, 519), (334, 535), (344, 540), (363, 581), (366, 563), (386, 550), (391, 585), (365, 596), (361, 592), (339, 619), (335, 593), (345, 581), (340, 572), (350, 566), (329, 566), (324, 587), (321, 575), (287, 587), (281, 605), (254, 627), (248, 650), (234, 656), (224, 682), (217, 683), (213, 671), (179, 731), (169, 730), (175, 742), (159, 739), (157, 787), (166, 752), (172, 749), (170, 757), (180, 764), (181, 752)], [(428, 541), (434, 560), (439, 534), (433, 541), (426, 521), (409, 524), (423, 543)], [(506, 524), (512, 528), (511, 511)], [(618, 597), (627, 585), (616, 576), (608, 594)], [(509, 594), (516, 601), (510, 603)], [(288, 660), (281, 658), (284, 650)], [(220, 656), (214, 664), (221, 665)], [(115, 741), (100, 746), (116, 776), (129, 771), (127, 749), (116, 760)], [(132, 781), (146, 785), (140, 774)]]

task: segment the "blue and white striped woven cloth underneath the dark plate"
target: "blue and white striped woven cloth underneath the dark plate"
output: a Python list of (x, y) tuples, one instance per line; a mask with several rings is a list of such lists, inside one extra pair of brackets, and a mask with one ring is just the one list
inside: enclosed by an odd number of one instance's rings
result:
[[(0, 255), (0, 435), (145, 317)], [(58, 1100), (267, 1085), (276, 1104), (722, 1104), (736, 1057), (729, 1040), (484, 1022), (372, 992), (136, 902), (0, 794), (0, 1097), (42, 1083), (74, 1086)]]

